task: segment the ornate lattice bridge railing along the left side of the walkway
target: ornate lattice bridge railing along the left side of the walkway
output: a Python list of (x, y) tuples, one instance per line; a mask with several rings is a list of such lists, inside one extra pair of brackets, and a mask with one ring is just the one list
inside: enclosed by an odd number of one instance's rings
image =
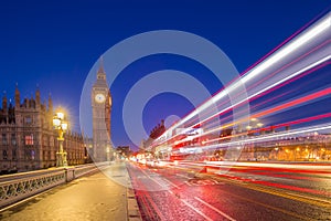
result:
[(45, 169), (0, 177), (0, 209), (26, 199), (55, 186), (97, 171), (109, 162), (89, 164), (76, 167)]

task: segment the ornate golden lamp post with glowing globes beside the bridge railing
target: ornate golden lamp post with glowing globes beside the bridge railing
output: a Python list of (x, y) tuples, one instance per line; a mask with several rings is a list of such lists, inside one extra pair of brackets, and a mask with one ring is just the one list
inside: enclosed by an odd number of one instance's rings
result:
[(67, 130), (67, 123), (64, 119), (64, 114), (57, 112), (53, 117), (53, 126), (58, 131), (58, 151), (56, 152), (56, 167), (66, 167), (66, 151), (63, 150), (64, 133)]

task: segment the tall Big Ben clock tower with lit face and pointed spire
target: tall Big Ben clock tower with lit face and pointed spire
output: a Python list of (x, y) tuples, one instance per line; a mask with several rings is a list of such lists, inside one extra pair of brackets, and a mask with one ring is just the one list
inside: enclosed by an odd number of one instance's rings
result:
[(108, 161), (113, 158), (110, 143), (111, 95), (106, 81), (103, 60), (90, 92), (93, 116), (93, 158), (94, 161)]

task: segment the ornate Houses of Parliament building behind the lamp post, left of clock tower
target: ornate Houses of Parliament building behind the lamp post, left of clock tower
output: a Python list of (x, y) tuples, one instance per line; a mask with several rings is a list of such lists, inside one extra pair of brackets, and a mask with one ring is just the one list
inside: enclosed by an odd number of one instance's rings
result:
[[(57, 131), (53, 129), (53, 103), (41, 103), (36, 88), (35, 97), (21, 102), (17, 86), (14, 102), (3, 94), (0, 108), (0, 172), (29, 171), (56, 166), (58, 150)], [(84, 164), (87, 152), (84, 137), (66, 131), (64, 150), (68, 165)]]

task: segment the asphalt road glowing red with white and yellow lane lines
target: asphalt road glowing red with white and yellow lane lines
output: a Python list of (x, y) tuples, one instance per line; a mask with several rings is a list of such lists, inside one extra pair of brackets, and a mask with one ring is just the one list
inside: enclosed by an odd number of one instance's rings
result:
[(143, 220), (331, 220), (331, 170), (127, 167)]

